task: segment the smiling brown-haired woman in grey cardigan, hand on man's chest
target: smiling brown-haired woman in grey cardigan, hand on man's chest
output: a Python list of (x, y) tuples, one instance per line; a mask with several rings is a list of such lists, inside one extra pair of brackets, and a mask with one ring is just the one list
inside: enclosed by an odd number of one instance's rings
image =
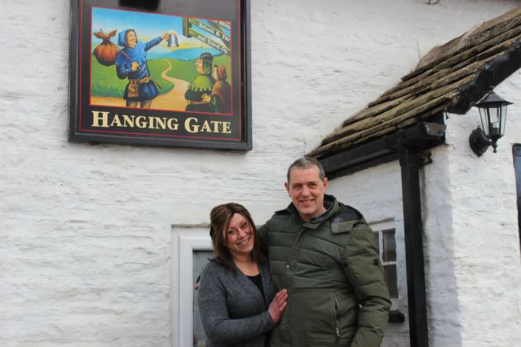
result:
[(226, 203), (210, 212), (214, 257), (197, 294), (206, 346), (265, 347), (281, 319), (288, 291), (275, 294), (249, 212)]

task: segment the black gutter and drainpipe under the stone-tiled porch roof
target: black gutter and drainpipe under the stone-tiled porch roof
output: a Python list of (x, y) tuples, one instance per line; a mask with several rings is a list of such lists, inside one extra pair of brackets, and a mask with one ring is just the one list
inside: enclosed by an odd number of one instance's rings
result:
[[(441, 123), (441, 121), (440, 121)], [(424, 151), (443, 144), (445, 125), (420, 122), (354, 149), (320, 158), (331, 179), (399, 159), (402, 171), (408, 320), (411, 347), (429, 347), (423, 259), (420, 167)], [(427, 160), (426, 160), (427, 158)]]

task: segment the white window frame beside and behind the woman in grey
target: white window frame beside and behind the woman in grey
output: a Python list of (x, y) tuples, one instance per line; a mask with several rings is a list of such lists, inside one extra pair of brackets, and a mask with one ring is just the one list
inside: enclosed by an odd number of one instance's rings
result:
[[(193, 256), (194, 251), (211, 251), (212, 241), (205, 224), (172, 226), (172, 273), (170, 298), (172, 347), (193, 344)], [(183, 319), (181, 319), (183, 317)]]

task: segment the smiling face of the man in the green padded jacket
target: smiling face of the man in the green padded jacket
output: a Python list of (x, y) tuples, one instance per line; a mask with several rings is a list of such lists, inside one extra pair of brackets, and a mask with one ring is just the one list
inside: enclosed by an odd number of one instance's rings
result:
[(290, 181), (286, 182), (286, 190), (302, 220), (309, 221), (326, 210), (324, 194), (327, 185), (327, 178), (322, 181), (318, 176), (317, 167), (291, 169)]

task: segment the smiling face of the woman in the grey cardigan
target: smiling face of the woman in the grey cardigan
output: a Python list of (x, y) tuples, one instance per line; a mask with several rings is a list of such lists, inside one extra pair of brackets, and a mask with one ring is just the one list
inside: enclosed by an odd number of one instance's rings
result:
[(254, 232), (246, 217), (240, 213), (235, 213), (230, 219), (226, 233), (227, 247), (232, 257), (238, 255), (248, 255), (254, 249)]

